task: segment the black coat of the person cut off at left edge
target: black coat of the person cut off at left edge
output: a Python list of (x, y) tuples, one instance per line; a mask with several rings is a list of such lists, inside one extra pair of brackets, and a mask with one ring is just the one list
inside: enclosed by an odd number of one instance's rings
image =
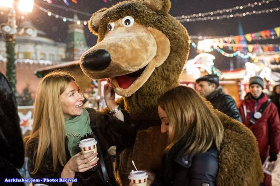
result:
[(24, 186), (24, 183), (5, 183), (21, 176), (17, 168), (24, 162), (23, 140), (17, 102), (6, 77), (0, 72), (0, 186)]

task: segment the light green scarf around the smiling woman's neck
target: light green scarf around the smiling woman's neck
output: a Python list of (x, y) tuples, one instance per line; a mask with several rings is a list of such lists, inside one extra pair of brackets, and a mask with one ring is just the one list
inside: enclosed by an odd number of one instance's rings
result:
[(81, 115), (65, 118), (65, 135), (68, 138), (68, 150), (71, 156), (79, 152), (78, 144), (80, 139), (88, 134), (92, 134), (92, 130), (89, 113), (85, 108), (83, 108)]

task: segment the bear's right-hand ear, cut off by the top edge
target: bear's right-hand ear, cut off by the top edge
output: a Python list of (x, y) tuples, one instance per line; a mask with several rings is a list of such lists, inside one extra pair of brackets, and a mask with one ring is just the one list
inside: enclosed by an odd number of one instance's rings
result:
[(149, 7), (155, 11), (162, 14), (167, 14), (171, 8), (170, 0), (143, 0)]

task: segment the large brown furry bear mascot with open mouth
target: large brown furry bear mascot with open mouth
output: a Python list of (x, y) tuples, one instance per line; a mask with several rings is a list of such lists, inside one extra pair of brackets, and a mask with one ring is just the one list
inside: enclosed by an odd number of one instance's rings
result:
[[(117, 151), (116, 179), (127, 186), (138, 169), (162, 169), (167, 136), (160, 132), (157, 99), (178, 86), (189, 53), (186, 29), (168, 14), (170, 0), (129, 0), (94, 13), (89, 29), (98, 42), (80, 59), (92, 79), (112, 78), (117, 102), (138, 124), (133, 148)], [(108, 110), (104, 110), (108, 112)], [(255, 137), (243, 124), (215, 111), (225, 133), (219, 152), (218, 186), (258, 186), (263, 179)]]

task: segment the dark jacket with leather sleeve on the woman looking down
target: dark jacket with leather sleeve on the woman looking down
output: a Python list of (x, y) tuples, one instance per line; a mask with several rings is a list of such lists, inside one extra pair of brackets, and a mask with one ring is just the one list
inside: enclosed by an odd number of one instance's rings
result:
[(179, 140), (164, 155), (163, 174), (157, 174), (152, 186), (215, 186), (218, 151), (211, 147), (197, 155), (184, 154), (184, 140)]

